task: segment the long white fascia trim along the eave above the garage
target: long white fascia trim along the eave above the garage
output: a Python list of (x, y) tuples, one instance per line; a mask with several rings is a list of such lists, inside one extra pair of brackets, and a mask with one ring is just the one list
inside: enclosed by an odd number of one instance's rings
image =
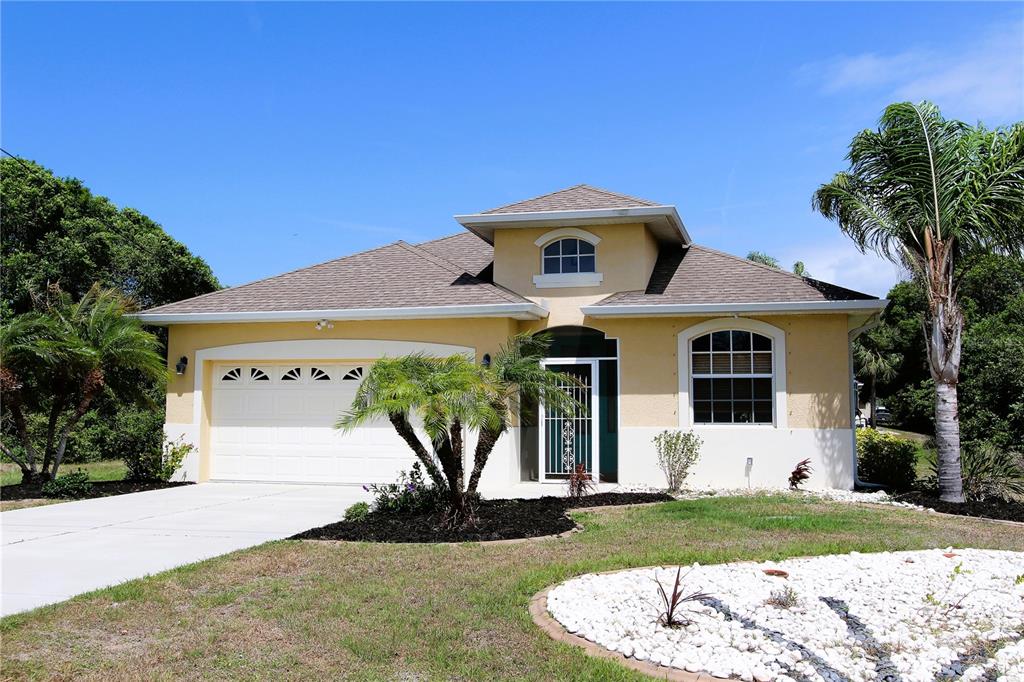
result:
[(329, 310), (266, 310), (252, 312), (138, 312), (145, 325), (201, 325), (210, 323), (315, 322), (317, 319), (432, 319), (443, 317), (514, 317), (541, 319), (547, 308), (537, 303), (432, 305), (407, 308), (342, 308)]

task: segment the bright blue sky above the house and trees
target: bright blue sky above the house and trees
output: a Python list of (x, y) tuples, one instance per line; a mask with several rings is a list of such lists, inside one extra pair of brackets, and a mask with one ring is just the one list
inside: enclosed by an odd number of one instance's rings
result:
[(226, 285), (587, 182), (884, 294), (810, 196), (886, 103), (1024, 119), (1019, 4), (2, 5), (2, 139)]

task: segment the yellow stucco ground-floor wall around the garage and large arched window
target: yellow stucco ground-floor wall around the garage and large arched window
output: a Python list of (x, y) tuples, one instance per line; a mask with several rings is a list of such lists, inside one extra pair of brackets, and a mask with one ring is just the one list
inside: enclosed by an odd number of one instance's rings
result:
[[(587, 297), (588, 299), (590, 297)], [(573, 301), (575, 302), (575, 301)], [(571, 306), (566, 306), (570, 308)], [(579, 307), (575, 308), (579, 311)], [(169, 357), (181, 355), (195, 367), (202, 348), (296, 339), (387, 339), (470, 346), (477, 357), (495, 352), (517, 331), (583, 324), (618, 339), (621, 424), (673, 426), (678, 422), (677, 337), (709, 317), (584, 318), (568, 309), (544, 321), (417, 319), (335, 323), (316, 332), (311, 323), (176, 325), (170, 330)], [(843, 314), (766, 315), (756, 319), (785, 332), (788, 425), (792, 428), (849, 427), (847, 319)], [(325, 358), (330, 359), (330, 358)], [(358, 359), (358, 358), (346, 358)], [(209, 373), (206, 373), (209, 376)], [(193, 373), (168, 385), (167, 421), (193, 421)], [(209, 395), (209, 390), (204, 390)]]

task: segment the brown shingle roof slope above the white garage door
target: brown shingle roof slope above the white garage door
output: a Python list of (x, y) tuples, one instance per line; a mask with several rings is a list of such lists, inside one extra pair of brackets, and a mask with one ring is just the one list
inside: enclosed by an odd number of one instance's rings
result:
[[(479, 238), (473, 237), (479, 241)], [(455, 243), (458, 244), (458, 243)], [(342, 310), (414, 306), (528, 303), (502, 287), (484, 282), (437, 251), (480, 254), (452, 244), (426, 248), (404, 242), (364, 251), (318, 265), (145, 310), (145, 313)], [(475, 245), (473, 245), (475, 247)], [(486, 246), (486, 245), (484, 245)], [(489, 248), (489, 247), (488, 247)]]

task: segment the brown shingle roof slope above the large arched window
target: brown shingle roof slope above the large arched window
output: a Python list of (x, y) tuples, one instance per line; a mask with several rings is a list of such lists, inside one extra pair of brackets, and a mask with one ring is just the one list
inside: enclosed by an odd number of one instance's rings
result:
[(645, 291), (612, 294), (596, 305), (855, 300), (878, 299), (852, 289), (690, 245), (688, 248), (662, 250)]

